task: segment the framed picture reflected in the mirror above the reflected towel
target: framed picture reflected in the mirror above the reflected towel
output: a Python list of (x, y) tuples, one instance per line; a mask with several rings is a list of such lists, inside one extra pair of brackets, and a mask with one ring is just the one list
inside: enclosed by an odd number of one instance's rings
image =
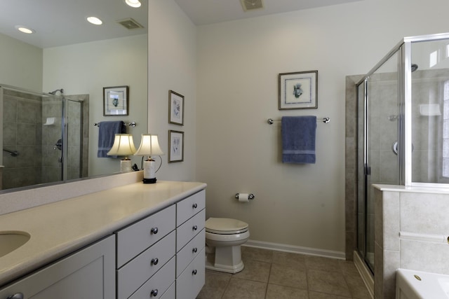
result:
[(128, 103), (128, 86), (103, 88), (103, 116), (127, 116)]

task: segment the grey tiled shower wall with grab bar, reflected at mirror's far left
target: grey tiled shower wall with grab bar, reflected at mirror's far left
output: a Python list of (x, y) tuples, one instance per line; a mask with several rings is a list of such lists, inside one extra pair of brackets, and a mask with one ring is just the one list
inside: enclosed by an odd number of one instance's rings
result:
[(4, 90), (2, 188), (41, 183), (41, 97)]

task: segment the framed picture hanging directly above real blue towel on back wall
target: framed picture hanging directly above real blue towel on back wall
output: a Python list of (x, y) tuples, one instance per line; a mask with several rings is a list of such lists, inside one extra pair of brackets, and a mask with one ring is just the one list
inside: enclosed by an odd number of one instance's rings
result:
[(318, 71), (279, 74), (279, 110), (317, 108)]

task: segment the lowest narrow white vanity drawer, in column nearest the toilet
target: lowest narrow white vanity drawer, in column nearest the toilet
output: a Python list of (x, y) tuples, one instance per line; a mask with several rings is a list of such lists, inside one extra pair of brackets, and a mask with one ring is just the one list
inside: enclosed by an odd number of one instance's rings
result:
[(204, 286), (205, 277), (204, 249), (176, 279), (176, 296), (182, 299), (194, 299)]

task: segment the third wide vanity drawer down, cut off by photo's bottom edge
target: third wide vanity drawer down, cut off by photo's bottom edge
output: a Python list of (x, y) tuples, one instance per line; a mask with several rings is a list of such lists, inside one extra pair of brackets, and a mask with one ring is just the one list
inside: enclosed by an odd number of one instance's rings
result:
[[(162, 267), (152, 278), (150, 278), (145, 284), (138, 289), (129, 299), (147, 299), (147, 298), (160, 298), (161, 294), (166, 295), (167, 289), (173, 284), (175, 277), (175, 257), (173, 257), (166, 265)], [(164, 293), (165, 292), (165, 293)], [(162, 298), (175, 298), (162, 297)]]

